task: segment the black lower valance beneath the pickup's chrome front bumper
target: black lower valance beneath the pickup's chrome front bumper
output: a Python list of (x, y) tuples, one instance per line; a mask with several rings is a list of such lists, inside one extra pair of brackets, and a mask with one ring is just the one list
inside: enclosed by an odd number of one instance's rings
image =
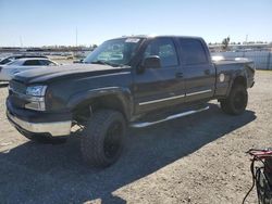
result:
[(51, 138), (47, 135), (33, 133), (33, 132), (25, 131), (25, 130), (20, 129), (20, 128), (16, 128), (16, 129), (25, 138), (27, 138), (30, 141), (37, 142), (37, 143), (60, 144), (60, 143), (64, 143), (66, 141), (66, 138)]

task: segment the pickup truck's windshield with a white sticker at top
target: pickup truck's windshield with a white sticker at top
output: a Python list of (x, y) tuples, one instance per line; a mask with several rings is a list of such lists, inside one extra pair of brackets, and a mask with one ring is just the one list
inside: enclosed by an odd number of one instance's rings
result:
[(83, 63), (111, 66), (129, 65), (141, 40), (143, 38), (122, 38), (106, 41), (91, 52)]

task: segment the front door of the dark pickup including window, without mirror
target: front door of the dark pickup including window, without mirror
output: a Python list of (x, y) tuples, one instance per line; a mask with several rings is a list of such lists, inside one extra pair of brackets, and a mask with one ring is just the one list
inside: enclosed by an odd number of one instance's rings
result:
[(182, 66), (172, 38), (154, 38), (143, 59), (158, 55), (160, 68), (146, 68), (134, 75), (135, 113), (148, 112), (184, 102), (185, 85)]

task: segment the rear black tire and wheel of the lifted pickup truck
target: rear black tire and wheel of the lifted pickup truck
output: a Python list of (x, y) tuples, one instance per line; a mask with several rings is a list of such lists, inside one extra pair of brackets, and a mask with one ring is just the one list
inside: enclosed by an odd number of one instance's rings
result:
[(243, 85), (235, 85), (230, 95), (220, 101), (223, 112), (231, 115), (240, 115), (245, 112), (248, 102), (247, 89)]

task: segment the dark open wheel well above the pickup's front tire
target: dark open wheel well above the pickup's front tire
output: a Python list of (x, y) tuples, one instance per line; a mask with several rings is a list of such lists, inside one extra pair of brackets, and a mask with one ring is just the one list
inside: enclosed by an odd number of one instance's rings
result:
[(127, 119), (126, 110), (122, 100), (113, 94), (97, 97), (77, 104), (73, 109), (73, 119), (77, 123), (84, 122), (88, 119), (94, 112), (101, 109), (119, 111), (124, 115), (125, 119)]

